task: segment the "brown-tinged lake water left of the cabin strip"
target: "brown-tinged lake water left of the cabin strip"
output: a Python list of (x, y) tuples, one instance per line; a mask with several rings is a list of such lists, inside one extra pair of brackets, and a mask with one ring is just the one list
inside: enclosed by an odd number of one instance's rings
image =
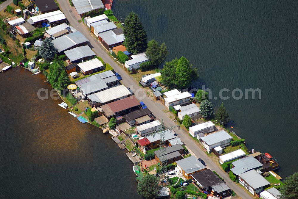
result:
[(100, 129), (40, 100), (42, 74), (0, 73), (0, 198), (141, 198), (133, 164)]

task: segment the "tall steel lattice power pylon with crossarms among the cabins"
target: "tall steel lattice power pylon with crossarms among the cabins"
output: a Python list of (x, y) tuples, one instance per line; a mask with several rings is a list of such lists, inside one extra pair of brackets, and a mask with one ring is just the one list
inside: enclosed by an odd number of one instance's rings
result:
[(176, 128), (176, 127), (179, 127), (179, 129), (180, 129), (180, 126), (178, 126), (178, 125), (177, 126), (171, 126), (171, 127), (165, 127), (164, 126), (164, 120), (162, 120), (161, 128), (157, 129), (156, 131), (154, 131), (153, 133), (150, 134), (150, 135), (153, 134), (153, 137), (156, 134), (160, 134), (159, 135), (159, 138), (160, 138), (159, 160), (161, 162), (161, 168), (159, 170), (159, 176), (160, 176), (162, 181), (166, 180), (165, 173), (167, 173), (167, 151), (166, 151), (166, 147), (165, 147), (165, 141), (166, 141), (165, 132), (168, 131), (168, 130), (172, 131), (172, 129)]

